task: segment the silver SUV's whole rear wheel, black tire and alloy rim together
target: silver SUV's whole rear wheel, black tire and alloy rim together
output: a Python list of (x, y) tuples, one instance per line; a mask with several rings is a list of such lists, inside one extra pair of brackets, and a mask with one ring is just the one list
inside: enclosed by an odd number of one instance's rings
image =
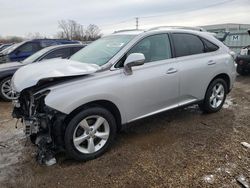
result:
[[(223, 87), (223, 89), (221, 89), (221, 92), (216, 94), (216, 92), (219, 91), (218, 88), (219, 86)], [(214, 88), (218, 88), (216, 92)], [(200, 109), (205, 113), (218, 112), (222, 108), (225, 102), (227, 92), (228, 92), (228, 87), (225, 80), (221, 78), (213, 80), (208, 86), (203, 102), (199, 104)]]

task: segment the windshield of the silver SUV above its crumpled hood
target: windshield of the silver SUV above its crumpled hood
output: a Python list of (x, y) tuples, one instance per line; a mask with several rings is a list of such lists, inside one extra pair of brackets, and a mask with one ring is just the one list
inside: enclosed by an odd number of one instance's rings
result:
[(104, 65), (134, 37), (135, 35), (103, 37), (78, 51), (70, 59), (99, 66)]

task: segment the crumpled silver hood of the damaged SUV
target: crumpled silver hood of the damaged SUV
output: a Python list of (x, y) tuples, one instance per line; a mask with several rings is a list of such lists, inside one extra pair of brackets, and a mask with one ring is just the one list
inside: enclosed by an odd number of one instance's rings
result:
[(95, 64), (81, 63), (68, 59), (52, 59), (32, 63), (18, 69), (12, 78), (12, 87), (16, 92), (36, 85), (46, 78), (87, 75), (100, 70)]

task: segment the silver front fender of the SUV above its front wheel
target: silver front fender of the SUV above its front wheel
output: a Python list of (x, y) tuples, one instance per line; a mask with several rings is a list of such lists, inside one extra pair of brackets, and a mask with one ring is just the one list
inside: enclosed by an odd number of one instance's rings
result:
[(103, 79), (82, 79), (65, 86), (49, 88), (50, 93), (45, 98), (45, 104), (65, 114), (70, 114), (78, 107), (97, 100), (110, 101), (120, 111), (122, 123), (126, 122), (121, 98), (123, 87), (119, 82), (120, 72), (110, 72)]

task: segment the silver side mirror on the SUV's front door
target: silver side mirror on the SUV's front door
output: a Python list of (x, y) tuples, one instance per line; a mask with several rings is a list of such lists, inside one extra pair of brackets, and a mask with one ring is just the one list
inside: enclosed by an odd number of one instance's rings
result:
[(143, 65), (145, 61), (145, 56), (142, 53), (132, 53), (129, 54), (124, 62), (124, 73), (126, 75), (132, 74), (132, 67)]

